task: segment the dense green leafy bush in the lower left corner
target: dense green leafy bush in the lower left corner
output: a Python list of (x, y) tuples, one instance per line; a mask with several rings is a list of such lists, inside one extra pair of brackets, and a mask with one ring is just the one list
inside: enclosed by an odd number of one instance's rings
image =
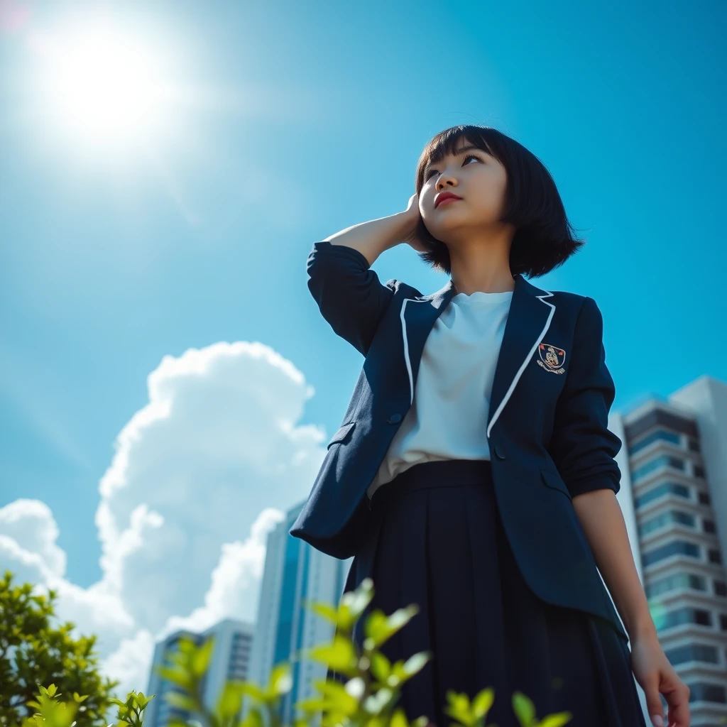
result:
[[(73, 623), (53, 624), (55, 591), (33, 594), (32, 585), (12, 580), (9, 571), (0, 579), (0, 727), (18, 726), (31, 716), (41, 684), (54, 684), (54, 694), (73, 695), (76, 727), (105, 725), (118, 682), (98, 672), (96, 637), (74, 638)], [(52, 696), (41, 693), (37, 704)]]

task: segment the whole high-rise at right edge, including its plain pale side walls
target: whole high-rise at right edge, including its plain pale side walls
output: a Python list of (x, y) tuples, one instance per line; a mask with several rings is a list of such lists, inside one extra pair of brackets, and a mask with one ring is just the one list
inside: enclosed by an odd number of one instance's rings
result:
[(699, 377), (614, 412), (609, 428), (623, 442), (616, 497), (659, 642), (691, 690), (691, 724), (724, 724), (727, 385)]

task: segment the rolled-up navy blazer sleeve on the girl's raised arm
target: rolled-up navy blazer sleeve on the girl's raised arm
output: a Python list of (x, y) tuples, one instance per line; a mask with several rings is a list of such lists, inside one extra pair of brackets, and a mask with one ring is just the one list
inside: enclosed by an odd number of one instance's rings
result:
[(334, 332), (364, 356), (394, 295), (395, 278), (384, 285), (362, 252), (324, 240), (308, 254), (308, 289)]

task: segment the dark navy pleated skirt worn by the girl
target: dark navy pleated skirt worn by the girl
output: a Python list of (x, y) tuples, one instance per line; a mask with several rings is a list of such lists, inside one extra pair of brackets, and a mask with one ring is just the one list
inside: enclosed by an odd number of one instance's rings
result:
[(374, 599), (354, 632), (359, 646), (369, 611), (419, 606), (381, 648), (391, 662), (433, 654), (402, 687), (399, 704), (409, 720), (427, 715), (448, 727), (447, 691), (471, 699), (491, 686), (487, 723), (498, 727), (520, 725), (514, 691), (532, 700), (538, 719), (568, 710), (569, 727), (646, 727), (630, 650), (614, 627), (542, 601), (523, 580), (499, 518), (489, 461), (409, 467), (374, 493), (369, 523), (344, 592), (366, 577), (374, 581)]

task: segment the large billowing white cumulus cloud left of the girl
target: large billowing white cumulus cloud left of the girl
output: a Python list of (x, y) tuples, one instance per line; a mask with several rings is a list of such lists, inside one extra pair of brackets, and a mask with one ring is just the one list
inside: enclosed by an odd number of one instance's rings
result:
[(324, 431), (297, 425), (312, 395), (258, 342), (165, 356), (99, 483), (102, 579), (65, 579), (55, 519), (29, 499), (0, 509), (0, 568), (57, 590), (58, 616), (99, 635), (117, 693), (144, 690), (162, 635), (254, 622), (267, 534), (308, 495), (324, 456)]

